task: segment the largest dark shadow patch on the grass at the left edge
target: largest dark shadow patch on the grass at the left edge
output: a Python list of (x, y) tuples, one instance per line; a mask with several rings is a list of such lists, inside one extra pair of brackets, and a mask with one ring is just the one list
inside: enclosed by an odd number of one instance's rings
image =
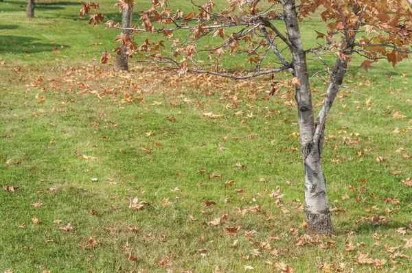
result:
[[(40, 39), (35, 37), (25, 36), (1, 36), (0, 39), (0, 54), (34, 54), (39, 52), (52, 51), (60, 49), (62, 45), (53, 45), (50, 43), (42, 43)], [(68, 45), (63, 45), (68, 48)]]

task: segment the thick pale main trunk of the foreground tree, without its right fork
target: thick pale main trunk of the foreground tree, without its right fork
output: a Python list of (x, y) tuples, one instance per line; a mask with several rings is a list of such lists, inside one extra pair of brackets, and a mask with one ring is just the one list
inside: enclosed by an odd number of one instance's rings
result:
[(295, 0), (284, 0), (284, 21), (290, 42), (295, 77), (299, 79), (299, 84), (296, 85), (295, 99), (298, 110), (299, 140), (305, 172), (305, 203), (308, 231), (317, 234), (332, 234), (334, 230), (321, 163), (323, 134), (321, 141), (314, 141), (316, 124), (313, 116), (306, 53), (302, 45)]

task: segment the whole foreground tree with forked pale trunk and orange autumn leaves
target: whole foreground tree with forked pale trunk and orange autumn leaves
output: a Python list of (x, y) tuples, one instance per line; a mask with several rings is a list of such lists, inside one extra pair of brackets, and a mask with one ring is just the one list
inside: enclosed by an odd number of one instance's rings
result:
[[(133, 0), (117, 1), (120, 10), (131, 9), (132, 3)], [(144, 55), (145, 60), (142, 62), (169, 64), (169, 69), (175, 69), (179, 74), (208, 73), (232, 80), (288, 71), (291, 83), (295, 86), (308, 230), (311, 233), (333, 233), (321, 163), (326, 118), (342, 87), (348, 64), (354, 58), (364, 59), (361, 67), (366, 71), (380, 59), (386, 59), (394, 67), (397, 62), (408, 58), (412, 43), (412, 12), (409, 2), (301, 0), (296, 3), (295, 0), (227, 0), (227, 3), (229, 6), (221, 9), (216, 7), (213, 0), (204, 5), (196, 5), (192, 1), (197, 11), (183, 13), (180, 9), (172, 12), (166, 0), (153, 0), (152, 7), (141, 12), (139, 26), (123, 28), (131, 30), (131, 34), (117, 36), (115, 40), (121, 41), (121, 45), (113, 49), (113, 52), (119, 54), (124, 49), (128, 56)], [(93, 5), (95, 4), (84, 4), (80, 14), (89, 13)], [(89, 23), (103, 23), (102, 14), (96, 9), (93, 12)], [(317, 47), (304, 49), (300, 27), (304, 27), (304, 20), (310, 15), (321, 16), (327, 23), (327, 32), (314, 30), (314, 35), (322, 42)], [(107, 21), (105, 25), (122, 28), (114, 21)], [(185, 32), (186, 35), (174, 38), (176, 31)], [(158, 39), (157, 42), (152, 42), (146, 39), (142, 45), (136, 45), (133, 35), (144, 32), (152, 33), (150, 38), (157, 38), (155, 34), (163, 34), (165, 41)], [(215, 45), (200, 48), (201, 40), (209, 36), (214, 38)], [(209, 62), (199, 62), (205, 54)], [(235, 73), (221, 69), (220, 63), (233, 58), (235, 54), (243, 54), (245, 64), (250, 62), (251, 68)], [(105, 63), (110, 56), (105, 51), (100, 61)], [(308, 58), (318, 60), (323, 64), (324, 70), (315, 73), (308, 71)], [(269, 67), (275, 63), (275, 67)], [(319, 74), (328, 78), (328, 88), (315, 118), (310, 78)]]

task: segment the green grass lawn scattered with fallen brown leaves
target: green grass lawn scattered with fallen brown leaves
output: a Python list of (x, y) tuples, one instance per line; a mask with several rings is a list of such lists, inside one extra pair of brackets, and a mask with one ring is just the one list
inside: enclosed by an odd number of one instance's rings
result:
[[(113, 4), (104, 1), (102, 10), (119, 19)], [(25, 2), (0, 3), (0, 185), (21, 187), (0, 191), (0, 270), (213, 272), (219, 266), (225, 272), (243, 272), (244, 265), (251, 265), (251, 272), (277, 272), (266, 261), (283, 261), (295, 272), (318, 272), (314, 257), (325, 264), (325, 272), (328, 266), (337, 271), (340, 264), (347, 272), (411, 268), (412, 250), (404, 248), (404, 239), (412, 237), (407, 227), (412, 221), (412, 194), (400, 182), (412, 176), (412, 159), (403, 157), (412, 155), (408, 62), (396, 69), (381, 62), (369, 73), (358, 68), (359, 61), (352, 63), (345, 84), (372, 97), (372, 104), (367, 106), (365, 97), (343, 89), (330, 114), (323, 168), (331, 207), (341, 209), (333, 213), (336, 236), (321, 238), (323, 246), (298, 247), (295, 244), (305, 233), (299, 226), (304, 222), (299, 209), (304, 182), (299, 151), (290, 149), (299, 147), (298, 139), (289, 136), (298, 132), (295, 106), (285, 105), (293, 99), (290, 88), (268, 97), (267, 78), (177, 78), (142, 67), (116, 73), (98, 59), (103, 47), (114, 47), (111, 41), (117, 32), (78, 19), (77, 2), (38, 3), (33, 20), (25, 19), (22, 5)], [(185, 8), (189, 6), (188, 1)], [(302, 28), (307, 47), (315, 45), (312, 33), (322, 29), (320, 21), (304, 21)], [(53, 51), (56, 47), (58, 52)], [(240, 59), (228, 64), (236, 62)], [(21, 67), (19, 73), (12, 71), (14, 67)], [(310, 62), (311, 73), (319, 67)], [(39, 75), (43, 81), (35, 82)], [(314, 104), (319, 104), (325, 86), (315, 79), (314, 89)], [(122, 102), (125, 94), (136, 99)], [(244, 115), (234, 115), (240, 110)], [(393, 119), (398, 110), (406, 117)], [(222, 117), (205, 117), (208, 112)], [(247, 117), (251, 112), (253, 117)], [(395, 128), (400, 133), (393, 133)], [(150, 131), (154, 133), (147, 136)], [(352, 139), (360, 143), (343, 143)], [(399, 147), (405, 151), (396, 153)], [(385, 161), (377, 162), (378, 156)], [(203, 168), (205, 173), (198, 172)], [(214, 173), (222, 177), (208, 179)], [(227, 180), (234, 180), (233, 185), (225, 185)], [(288, 213), (269, 196), (277, 186)], [(180, 191), (171, 191), (175, 187)], [(371, 198), (372, 193), (378, 198)], [(349, 198), (342, 198), (345, 194)], [(225, 202), (228, 195), (230, 202)], [(130, 210), (128, 198), (135, 197), (150, 204)], [(165, 198), (172, 204), (163, 204)], [(382, 198), (396, 198), (399, 204), (385, 204)], [(216, 205), (205, 206), (205, 200)], [(35, 208), (36, 202), (43, 205)], [(238, 213), (240, 206), (249, 209), (256, 204), (262, 206), (261, 213)], [(396, 206), (399, 209), (385, 212)], [(203, 223), (224, 214), (228, 219), (218, 226)], [(360, 217), (374, 215), (391, 222), (356, 224)], [(40, 224), (33, 224), (32, 217)], [(56, 219), (62, 222), (54, 224)], [(19, 228), (22, 223), (24, 228)], [(68, 223), (73, 230), (58, 230)], [(233, 226), (241, 227), (237, 235), (225, 233), (225, 227)], [(295, 227), (297, 234), (290, 232)], [(398, 228), (406, 228), (407, 234), (401, 235)], [(245, 236), (250, 230), (258, 233)], [(100, 244), (84, 248), (90, 237)], [(232, 248), (236, 239), (238, 246)], [(332, 240), (334, 246), (325, 246)], [(266, 241), (279, 250), (279, 257), (262, 248)], [(347, 241), (356, 248), (346, 251)], [(361, 242), (365, 246), (356, 246)], [(394, 246), (408, 255), (395, 258), (400, 264), (389, 261), (387, 250)], [(261, 257), (241, 257), (254, 249)], [(357, 251), (387, 263), (360, 264)], [(127, 252), (137, 261), (126, 259)], [(162, 265), (165, 257), (172, 263)]]

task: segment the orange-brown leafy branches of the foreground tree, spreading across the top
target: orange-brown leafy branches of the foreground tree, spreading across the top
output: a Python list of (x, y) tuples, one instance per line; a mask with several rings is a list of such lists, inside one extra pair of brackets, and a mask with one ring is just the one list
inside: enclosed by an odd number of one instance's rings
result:
[[(220, 9), (212, 0), (204, 5), (197, 5), (192, 1), (197, 12), (184, 13), (179, 9), (170, 9), (167, 1), (154, 0), (149, 10), (139, 12), (140, 24), (130, 28), (131, 34), (122, 33), (117, 36), (115, 42), (120, 44), (113, 52), (119, 54), (121, 47), (124, 47), (129, 57), (140, 54), (146, 57), (145, 61), (171, 64), (182, 74), (187, 71), (211, 73), (233, 80), (284, 70), (292, 72), (290, 60), (287, 54), (283, 54), (284, 47), (292, 45), (277, 23), (283, 20), (284, 1), (227, 2), (229, 7)], [(79, 16), (90, 14), (89, 24), (93, 23), (94, 26), (104, 23), (104, 16), (98, 12), (98, 3), (82, 2), (82, 5)], [(122, 11), (133, 8), (133, 1), (119, 0), (116, 5)], [(321, 19), (327, 23), (328, 30), (325, 33), (314, 30), (317, 38), (323, 39), (323, 43), (306, 52), (314, 54), (325, 65), (327, 63), (321, 58), (323, 55), (335, 54), (346, 62), (350, 62), (354, 56), (363, 56), (369, 59), (361, 65), (367, 70), (380, 59), (386, 59), (395, 66), (411, 53), (412, 13), (407, 0), (302, 0), (296, 8), (299, 21), (321, 10)], [(106, 21), (104, 25), (122, 29), (119, 23), (112, 20)], [(183, 38), (175, 38), (176, 31), (186, 31), (187, 34)], [(143, 32), (163, 34), (163, 39), (168, 43), (161, 39), (146, 39), (144, 43), (137, 45), (133, 35)], [(209, 36), (214, 38), (214, 45), (198, 48), (197, 40)], [(157, 36), (151, 36), (155, 37)], [(349, 40), (344, 37), (352, 38), (352, 44), (349, 45)], [(207, 53), (209, 62), (199, 61), (202, 58), (198, 55), (204, 52)], [(225, 54), (244, 54), (245, 60), (253, 64), (247, 75), (242, 75), (240, 71), (223, 73), (219, 61)], [(268, 54), (277, 59), (277, 68), (265, 68), (268, 66), (265, 60)], [(108, 58), (105, 53), (101, 62), (105, 63)]]

